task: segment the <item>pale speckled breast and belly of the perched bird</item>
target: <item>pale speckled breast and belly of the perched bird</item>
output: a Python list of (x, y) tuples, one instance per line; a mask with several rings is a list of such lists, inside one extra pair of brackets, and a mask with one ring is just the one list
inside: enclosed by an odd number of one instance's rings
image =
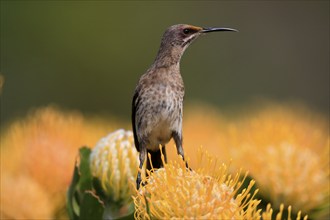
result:
[(138, 130), (147, 137), (148, 148), (158, 150), (166, 144), (173, 131), (181, 133), (183, 94), (170, 84), (156, 84), (142, 94), (137, 118)]

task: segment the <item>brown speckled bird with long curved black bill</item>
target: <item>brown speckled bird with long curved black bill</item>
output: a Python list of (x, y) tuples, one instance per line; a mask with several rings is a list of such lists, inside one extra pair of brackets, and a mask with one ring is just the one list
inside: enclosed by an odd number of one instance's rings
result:
[[(180, 60), (195, 39), (216, 31), (237, 30), (226, 27), (203, 28), (188, 24), (170, 26), (163, 34), (154, 62), (140, 77), (134, 90), (131, 115), (134, 144), (140, 161), (136, 178), (137, 189), (140, 188), (144, 162), (148, 170), (163, 167), (161, 154), (164, 155), (166, 163), (165, 145), (172, 138), (177, 154), (185, 161), (182, 146), (185, 89), (180, 73)], [(188, 163), (185, 163), (189, 168)]]

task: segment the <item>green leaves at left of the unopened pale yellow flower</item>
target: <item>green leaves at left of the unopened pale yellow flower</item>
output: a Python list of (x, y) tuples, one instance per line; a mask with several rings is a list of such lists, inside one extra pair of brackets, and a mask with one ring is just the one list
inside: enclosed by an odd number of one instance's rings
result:
[(91, 149), (82, 147), (74, 167), (72, 181), (67, 193), (67, 210), (72, 220), (134, 218), (134, 205), (122, 206), (108, 198), (99, 179), (94, 178), (89, 165)]

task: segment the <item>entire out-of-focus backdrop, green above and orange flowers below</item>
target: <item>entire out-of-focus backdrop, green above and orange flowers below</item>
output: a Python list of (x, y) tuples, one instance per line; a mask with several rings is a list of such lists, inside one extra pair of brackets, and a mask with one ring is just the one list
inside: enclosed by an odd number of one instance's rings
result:
[(136, 83), (178, 23), (239, 30), (201, 37), (181, 60), (191, 167), (205, 146), (249, 171), (264, 205), (329, 219), (329, 1), (0, 6), (1, 219), (68, 218), (78, 149), (131, 129)]

